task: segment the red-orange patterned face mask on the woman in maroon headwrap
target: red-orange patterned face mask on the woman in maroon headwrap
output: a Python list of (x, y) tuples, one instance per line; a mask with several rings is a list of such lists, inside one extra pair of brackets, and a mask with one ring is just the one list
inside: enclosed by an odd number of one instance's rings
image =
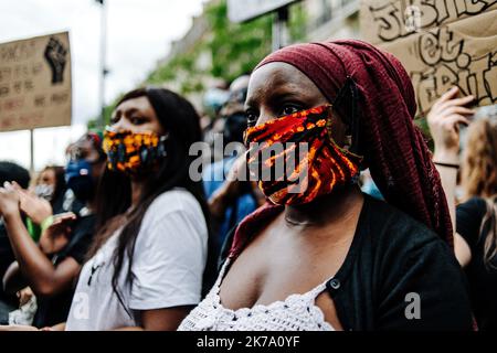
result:
[(245, 130), (251, 175), (273, 203), (305, 204), (357, 182), (362, 157), (334, 141), (330, 116), (325, 105)]

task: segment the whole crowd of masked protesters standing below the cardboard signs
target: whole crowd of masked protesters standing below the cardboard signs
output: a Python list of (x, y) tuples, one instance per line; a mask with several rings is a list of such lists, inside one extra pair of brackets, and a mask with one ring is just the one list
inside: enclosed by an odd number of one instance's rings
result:
[(352, 40), (215, 98), (138, 88), (64, 168), (0, 162), (1, 330), (497, 329), (495, 106), (445, 93), (431, 152), (405, 69)]

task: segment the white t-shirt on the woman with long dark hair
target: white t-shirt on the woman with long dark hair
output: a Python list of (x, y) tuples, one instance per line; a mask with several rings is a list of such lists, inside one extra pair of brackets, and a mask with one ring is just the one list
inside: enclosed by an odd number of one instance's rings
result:
[[(200, 204), (188, 191), (159, 195), (145, 213), (126, 280), (125, 257), (113, 290), (116, 232), (82, 268), (66, 330), (113, 330), (140, 325), (138, 310), (195, 306), (200, 301), (207, 261), (208, 229)], [(126, 309), (125, 309), (126, 308)]]

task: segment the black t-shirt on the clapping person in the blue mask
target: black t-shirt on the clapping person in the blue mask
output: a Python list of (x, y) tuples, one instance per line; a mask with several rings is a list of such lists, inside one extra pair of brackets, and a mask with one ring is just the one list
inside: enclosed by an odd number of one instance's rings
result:
[[(78, 217), (73, 224), (73, 232), (67, 245), (53, 257), (57, 266), (67, 257), (74, 258), (83, 266), (86, 253), (95, 234), (95, 215)], [(38, 328), (65, 322), (74, 296), (74, 287), (50, 298), (38, 298), (38, 310), (33, 324)]]

